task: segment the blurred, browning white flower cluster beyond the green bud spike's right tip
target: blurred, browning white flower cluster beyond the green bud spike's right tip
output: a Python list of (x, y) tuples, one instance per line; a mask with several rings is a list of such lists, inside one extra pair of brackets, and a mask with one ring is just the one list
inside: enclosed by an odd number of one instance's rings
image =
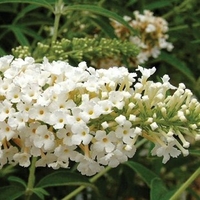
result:
[(128, 16), (124, 16), (124, 19), (138, 31), (139, 36), (131, 35), (128, 29), (115, 21), (113, 26), (120, 38), (129, 39), (140, 47), (141, 52), (137, 55), (136, 63), (145, 63), (150, 57), (157, 58), (161, 49), (167, 51), (173, 49), (173, 45), (167, 42), (168, 23), (165, 19), (154, 16), (153, 12), (149, 10), (144, 10), (144, 14), (140, 14), (139, 11), (135, 11), (133, 14), (135, 19)]

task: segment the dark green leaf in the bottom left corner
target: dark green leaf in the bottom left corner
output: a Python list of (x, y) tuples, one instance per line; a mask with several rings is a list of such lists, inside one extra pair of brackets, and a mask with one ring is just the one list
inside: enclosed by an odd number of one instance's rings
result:
[(24, 194), (24, 188), (16, 185), (10, 185), (0, 188), (0, 199), (14, 200)]

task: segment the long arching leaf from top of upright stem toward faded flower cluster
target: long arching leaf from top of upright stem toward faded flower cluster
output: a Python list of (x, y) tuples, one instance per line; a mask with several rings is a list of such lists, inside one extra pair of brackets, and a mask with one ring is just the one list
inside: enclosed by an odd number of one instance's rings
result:
[(121, 16), (117, 15), (116, 13), (109, 11), (105, 8), (101, 8), (95, 5), (73, 5), (73, 6), (66, 6), (65, 11), (71, 10), (81, 10), (81, 11), (89, 11), (98, 15), (102, 15), (111, 19), (114, 19), (124, 25), (125, 27), (129, 28), (129, 30), (133, 31), (137, 34), (137, 31), (133, 29)]

